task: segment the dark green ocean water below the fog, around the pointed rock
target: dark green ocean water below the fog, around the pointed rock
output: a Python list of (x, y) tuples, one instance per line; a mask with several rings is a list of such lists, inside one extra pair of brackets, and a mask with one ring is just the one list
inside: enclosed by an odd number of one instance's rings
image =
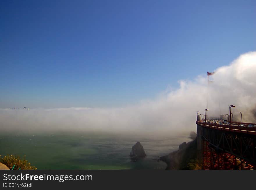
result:
[[(131, 146), (141, 142), (147, 156), (130, 159)], [(102, 133), (0, 134), (0, 154), (26, 155), (38, 169), (166, 169), (159, 156), (178, 149), (188, 136), (131, 137)]]

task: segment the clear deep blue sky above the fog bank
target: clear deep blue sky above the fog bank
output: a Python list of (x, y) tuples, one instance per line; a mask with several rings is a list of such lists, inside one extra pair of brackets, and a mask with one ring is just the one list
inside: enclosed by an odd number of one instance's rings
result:
[(0, 107), (108, 107), (255, 51), (256, 1), (1, 1)]

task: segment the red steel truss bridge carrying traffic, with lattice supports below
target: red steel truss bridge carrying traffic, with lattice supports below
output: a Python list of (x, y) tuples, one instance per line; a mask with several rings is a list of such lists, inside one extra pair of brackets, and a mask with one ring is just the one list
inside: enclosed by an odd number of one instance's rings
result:
[(202, 169), (256, 169), (256, 127), (196, 121)]

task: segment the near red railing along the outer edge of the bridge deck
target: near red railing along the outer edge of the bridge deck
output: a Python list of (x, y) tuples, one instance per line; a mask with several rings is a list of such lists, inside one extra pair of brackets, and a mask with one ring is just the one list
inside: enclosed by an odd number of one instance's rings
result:
[(204, 123), (204, 122), (200, 122), (200, 121), (196, 121), (196, 124), (198, 124), (200, 126), (203, 126), (203, 127), (208, 127), (208, 128), (216, 129), (216, 130), (256, 135), (256, 127), (243, 127), (243, 126), (233, 126), (233, 125), (219, 125), (219, 124), (213, 124), (213, 123)]

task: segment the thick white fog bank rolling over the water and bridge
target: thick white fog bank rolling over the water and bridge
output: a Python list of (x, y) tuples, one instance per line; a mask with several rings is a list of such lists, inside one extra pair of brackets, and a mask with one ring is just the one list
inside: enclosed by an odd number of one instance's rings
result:
[[(0, 109), (2, 131), (101, 131), (172, 135), (195, 131), (196, 111), (219, 117), (232, 108), (234, 120), (255, 122), (256, 52), (239, 56), (207, 76), (179, 81), (180, 87), (154, 100), (123, 108)], [(254, 111), (254, 112), (253, 112)]]

